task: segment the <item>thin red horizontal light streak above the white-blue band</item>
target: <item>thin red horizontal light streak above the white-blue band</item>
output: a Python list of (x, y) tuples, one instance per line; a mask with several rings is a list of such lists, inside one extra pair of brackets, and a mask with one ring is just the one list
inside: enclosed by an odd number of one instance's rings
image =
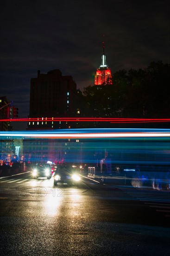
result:
[(108, 121), (111, 123), (121, 123), (121, 122), (170, 122), (170, 119), (153, 119), (153, 118), (93, 118), (93, 117), (68, 117), (68, 118), (58, 118), (58, 117), (37, 117), (37, 118), (14, 118), (14, 119), (0, 119), (0, 121), (88, 121), (88, 122), (104, 122)]

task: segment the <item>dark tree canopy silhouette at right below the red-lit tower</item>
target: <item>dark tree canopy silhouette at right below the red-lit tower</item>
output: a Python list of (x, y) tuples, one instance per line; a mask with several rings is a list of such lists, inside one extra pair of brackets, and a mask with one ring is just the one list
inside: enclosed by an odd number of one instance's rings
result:
[(81, 116), (169, 118), (170, 64), (158, 61), (145, 69), (123, 69), (112, 79), (112, 85), (88, 86), (79, 93)]

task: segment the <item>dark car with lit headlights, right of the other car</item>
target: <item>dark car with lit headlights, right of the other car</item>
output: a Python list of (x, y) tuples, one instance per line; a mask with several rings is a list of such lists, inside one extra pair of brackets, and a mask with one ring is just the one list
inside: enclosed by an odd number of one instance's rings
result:
[(77, 174), (75, 169), (67, 166), (59, 166), (53, 174), (54, 186), (58, 183), (67, 183), (69, 186), (78, 185), (81, 181), (80, 175)]

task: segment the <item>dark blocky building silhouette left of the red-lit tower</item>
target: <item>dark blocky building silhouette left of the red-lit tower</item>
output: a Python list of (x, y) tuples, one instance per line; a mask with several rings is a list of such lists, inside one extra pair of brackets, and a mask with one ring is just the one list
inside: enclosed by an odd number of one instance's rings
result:
[(30, 118), (28, 129), (70, 128), (68, 124), (46, 121), (48, 117), (69, 117), (75, 115), (76, 82), (71, 75), (63, 76), (59, 69), (31, 78)]

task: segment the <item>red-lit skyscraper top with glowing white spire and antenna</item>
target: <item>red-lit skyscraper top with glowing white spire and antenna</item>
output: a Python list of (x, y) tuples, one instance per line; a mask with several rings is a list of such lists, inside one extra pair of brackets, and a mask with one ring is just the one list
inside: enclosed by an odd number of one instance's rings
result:
[(112, 74), (110, 68), (106, 63), (106, 54), (105, 54), (105, 44), (104, 44), (104, 36), (103, 36), (103, 53), (101, 56), (101, 66), (97, 68), (94, 85), (104, 85), (104, 84), (112, 84)]

